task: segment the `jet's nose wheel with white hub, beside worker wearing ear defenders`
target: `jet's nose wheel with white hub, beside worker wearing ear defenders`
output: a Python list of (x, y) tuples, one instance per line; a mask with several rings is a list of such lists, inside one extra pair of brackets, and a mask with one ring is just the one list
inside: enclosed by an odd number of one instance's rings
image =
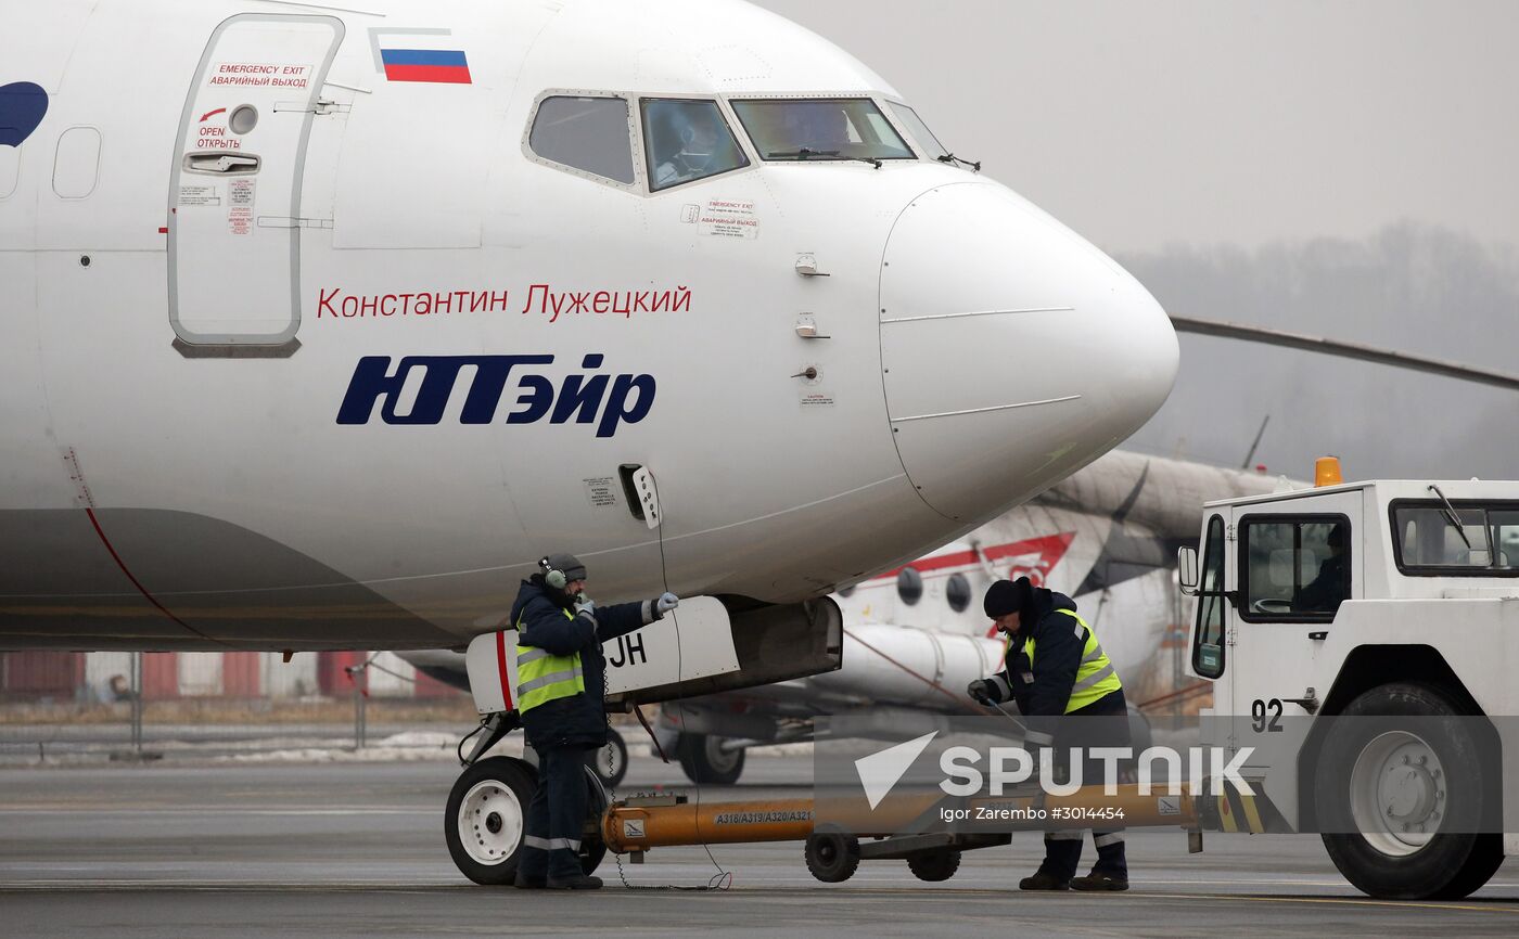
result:
[[(477, 787), (492, 783), (494, 792), (482, 789), (475, 799), (480, 804), (465, 819), (465, 799)], [(523, 854), (521, 824), (536, 787), (538, 771), (515, 757), (480, 760), (459, 774), (448, 793), (448, 809), (444, 810), (444, 840), (448, 842), (448, 854), (460, 874), (486, 886), (510, 884), (516, 878), (516, 862)], [(516, 813), (515, 819), (510, 818), (512, 812)], [(510, 837), (513, 825), (515, 843)], [(503, 833), (504, 840), (500, 840)], [(466, 837), (472, 839), (469, 846), (465, 843)]]

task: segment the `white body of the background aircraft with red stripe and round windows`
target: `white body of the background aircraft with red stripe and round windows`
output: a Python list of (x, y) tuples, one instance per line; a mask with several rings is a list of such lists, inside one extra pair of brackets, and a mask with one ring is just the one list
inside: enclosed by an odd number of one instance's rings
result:
[(1274, 484), (1112, 451), (1025, 505), (838, 596), (838, 672), (740, 695), (805, 701), (810, 713), (881, 704), (965, 713), (966, 683), (1003, 667), (1006, 637), (983, 613), (986, 589), (1019, 576), (1075, 599), (1132, 704), (1164, 695), (1182, 674), (1188, 613), (1174, 583), (1177, 546), (1195, 537), (1205, 501), (1268, 493)]

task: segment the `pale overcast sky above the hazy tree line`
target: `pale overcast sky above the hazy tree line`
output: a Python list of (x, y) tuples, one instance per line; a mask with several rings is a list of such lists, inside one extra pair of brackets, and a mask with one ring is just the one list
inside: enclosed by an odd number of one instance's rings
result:
[(1519, 244), (1513, 0), (758, 0), (1109, 252)]

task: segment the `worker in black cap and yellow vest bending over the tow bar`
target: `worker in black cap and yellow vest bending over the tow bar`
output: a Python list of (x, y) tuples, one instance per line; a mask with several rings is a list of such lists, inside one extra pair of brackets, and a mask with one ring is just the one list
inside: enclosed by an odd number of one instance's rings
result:
[[(1129, 707), (1123, 683), (1097, 636), (1075, 613), (1075, 601), (1034, 587), (1027, 576), (996, 581), (986, 592), (986, 614), (1007, 636), (1006, 669), (966, 689), (975, 701), (1016, 701), (1028, 719), (1025, 743), (1062, 748), (1129, 746)], [(1083, 721), (1066, 721), (1080, 716)], [(1056, 740), (1059, 737), (1059, 742)], [(1101, 760), (1082, 760), (1082, 783), (1100, 784)], [(1075, 877), (1082, 831), (1045, 831), (1045, 859), (1022, 890), (1127, 890), (1123, 830), (1092, 831), (1097, 863)]]

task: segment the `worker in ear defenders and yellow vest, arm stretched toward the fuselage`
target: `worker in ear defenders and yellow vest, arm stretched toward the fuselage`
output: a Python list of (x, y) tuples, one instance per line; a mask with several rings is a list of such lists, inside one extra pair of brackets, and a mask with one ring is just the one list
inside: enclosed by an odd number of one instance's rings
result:
[(538, 752), (538, 790), (527, 806), (516, 886), (594, 890), (580, 869), (586, 757), (606, 746), (606, 660), (602, 643), (662, 619), (681, 602), (664, 593), (641, 604), (600, 607), (585, 596), (585, 564), (551, 554), (512, 604), (516, 708)]

